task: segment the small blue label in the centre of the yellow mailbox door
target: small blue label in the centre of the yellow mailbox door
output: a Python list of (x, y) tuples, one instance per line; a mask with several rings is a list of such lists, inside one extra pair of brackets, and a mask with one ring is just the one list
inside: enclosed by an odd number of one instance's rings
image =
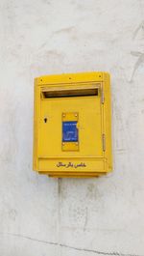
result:
[(77, 142), (77, 121), (62, 122), (62, 142)]

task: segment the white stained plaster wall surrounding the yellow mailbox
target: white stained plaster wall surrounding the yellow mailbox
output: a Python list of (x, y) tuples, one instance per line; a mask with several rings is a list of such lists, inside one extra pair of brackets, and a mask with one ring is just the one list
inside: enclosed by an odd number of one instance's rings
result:
[[(114, 172), (32, 171), (34, 77), (109, 71)], [(0, 256), (144, 255), (144, 0), (0, 1)]]

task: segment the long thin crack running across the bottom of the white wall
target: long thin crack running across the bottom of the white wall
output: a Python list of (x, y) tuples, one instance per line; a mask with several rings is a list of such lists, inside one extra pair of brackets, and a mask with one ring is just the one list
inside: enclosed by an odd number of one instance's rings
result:
[(1, 236), (12, 236), (12, 237), (16, 237), (16, 238), (20, 238), (20, 239), (26, 239), (26, 240), (30, 240), (30, 241), (34, 241), (34, 242), (41, 242), (41, 243), (46, 243), (49, 245), (56, 245), (56, 246), (60, 246), (63, 248), (68, 248), (68, 249), (72, 249), (72, 250), (77, 250), (77, 251), (84, 251), (84, 252), (88, 252), (88, 253), (95, 253), (98, 255), (109, 255), (109, 256), (144, 256), (144, 255), (138, 255), (138, 254), (132, 254), (132, 253), (121, 253), (118, 251), (99, 251), (99, 250), (94, 250), (94, 249), (86, 249), (86, 248), (79, 248), (79, 247), (74, 247), (68, 244), (64, 244), (64, 243), (59, 243), (59, 242), (48, 242), (48, 241), (44, 241), (44, 240), (38, 240), (32, 237), (28, 237), (28, 236), (24, 236), (24, 235), (20, 235), (20, 234), (14, 234), (14, 233), (0, 233)]

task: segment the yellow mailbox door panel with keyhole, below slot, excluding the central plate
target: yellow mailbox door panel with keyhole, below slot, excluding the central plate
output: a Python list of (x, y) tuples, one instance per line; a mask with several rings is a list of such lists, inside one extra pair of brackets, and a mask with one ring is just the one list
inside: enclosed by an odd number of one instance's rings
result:
[[(78, 150), (62, 150), (62, 113), (78, 113)], [(72, 120), (71, 120), (72, 121)], [(38, 126), (38, 157), (103, 156), (100, 96), (43, 99)]]

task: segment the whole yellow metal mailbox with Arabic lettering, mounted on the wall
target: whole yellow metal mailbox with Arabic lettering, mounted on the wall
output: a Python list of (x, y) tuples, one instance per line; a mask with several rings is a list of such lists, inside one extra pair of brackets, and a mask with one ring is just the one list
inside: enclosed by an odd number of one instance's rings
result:
[(34, 170), (98, 177), (112, 170), (108, 72), (35, 79)]

